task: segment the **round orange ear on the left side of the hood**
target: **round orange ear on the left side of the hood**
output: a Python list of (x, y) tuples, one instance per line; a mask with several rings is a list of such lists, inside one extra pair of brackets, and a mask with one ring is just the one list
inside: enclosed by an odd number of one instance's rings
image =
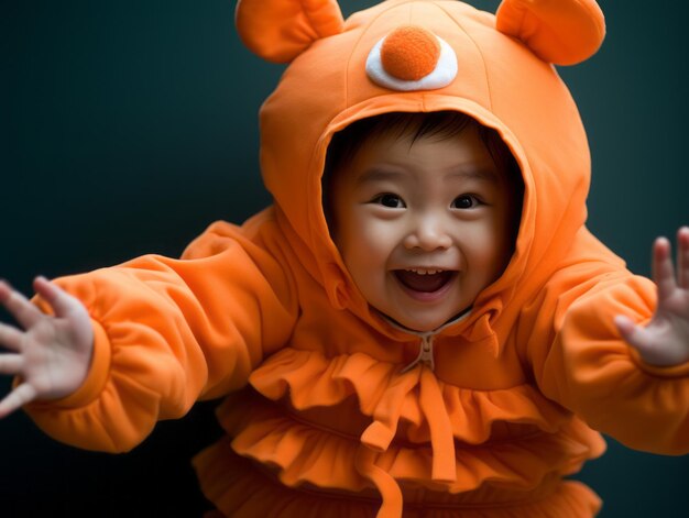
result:
[(288, 63), (313, 42), (342, 32), (337, 0), (239, 0), (234, 23), (254, 54)]

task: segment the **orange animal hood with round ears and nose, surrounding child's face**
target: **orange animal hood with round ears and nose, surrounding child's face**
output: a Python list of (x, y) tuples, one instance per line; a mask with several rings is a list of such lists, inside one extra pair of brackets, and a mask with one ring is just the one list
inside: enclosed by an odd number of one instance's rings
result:
[[(261, 167), (278, 222), (336, 307), (364, 311), (332, 243), (321, 175), (332, 134), (384, 112), (464, 112), (514, 154), (525, 194), (515, 254), (474, 304), (491, 323), (535, 289), (586, 220), (589, 148), (554, 65), (597, 52), (593, 0), (504, 0), (495, 15), (453, 0), (387, 0), (342, 19), (336, 0), (240, 0), (239, 34), (289, 63), (261, 110)], [(479, 311), (481, 308), (481, 311)]]

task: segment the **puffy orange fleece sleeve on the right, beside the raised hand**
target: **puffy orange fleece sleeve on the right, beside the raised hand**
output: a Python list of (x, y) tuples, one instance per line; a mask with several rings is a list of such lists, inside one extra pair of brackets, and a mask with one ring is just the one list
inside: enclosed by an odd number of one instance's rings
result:
[(593, 429), (630, 448), (689, 452), (689, 365), (645, 365), (613, 318), (647, 322), (656, 289), (621, 266), (583, 262), (556, 274), (522, 313), (536, 383)]

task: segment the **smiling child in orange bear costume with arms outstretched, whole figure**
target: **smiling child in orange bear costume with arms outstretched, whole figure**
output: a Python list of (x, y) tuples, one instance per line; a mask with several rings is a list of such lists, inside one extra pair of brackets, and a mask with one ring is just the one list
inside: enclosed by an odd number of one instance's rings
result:
[(42, 311), (2, 285), (0, 415), (125, 451), (231, 393), (195, 460), (226, 516), (592, 516), (564, 477), (593, 429), (689, 451), (689, 229), (677, 275), (655, 244), (657, 297), (587, 231), (550, 64), (603, 22), (553, 4), (240, 2), (244, 42), (292, 62), (261, 114), (275, 205), (182, 260), (37, 278)]

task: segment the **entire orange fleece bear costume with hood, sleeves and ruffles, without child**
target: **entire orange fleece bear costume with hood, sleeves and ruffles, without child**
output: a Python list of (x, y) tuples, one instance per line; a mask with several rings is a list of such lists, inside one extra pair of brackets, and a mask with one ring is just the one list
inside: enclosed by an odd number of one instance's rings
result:
[[(604, 443), (689, 451), (689, 367), (643, 364), (613, 317), (647, 321), (655, 287), (586, 229), (589, 150), (553, 64), (592, 55), (592, 0), (243, 0), (247, 45), (291, 62), (261, 111), (274, 206), (212, 224), (182, 260), (58, 280), (96, 330), (83, 387), (29, 409), (51, 436), (125, 451), (198, 398), (227, 438), (197, 456), (227, 516), (584, 517), (564, 477)], [(386, 40), (390, 37), (390, 41)], [(392, 111), (456, 110), (495, 129), (523, 175), (514, 255), (435, 333), (370, 308), (332, 243), (321, 174), (332, 134)]]

